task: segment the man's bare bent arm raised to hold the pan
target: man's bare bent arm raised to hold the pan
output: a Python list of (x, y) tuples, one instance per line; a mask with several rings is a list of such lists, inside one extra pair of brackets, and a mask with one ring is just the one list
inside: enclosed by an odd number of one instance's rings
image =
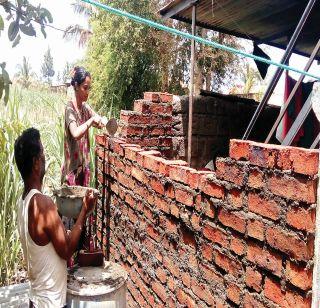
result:
[(93, 193), (91, 192), (91, 195), (86, 195), (83, 201), (79, 217), (73, 226), (71, 233), (67, 235), (61, 218), (58, 215), (56, 205), (50, 198), (47, 198), (47, 224), (44, 227), (44, 231), (52, 242), (57, 254), (65, 260), (68, 260), (72, 256), (78, 246), (86, 214), (93, 209), (95, 204)]

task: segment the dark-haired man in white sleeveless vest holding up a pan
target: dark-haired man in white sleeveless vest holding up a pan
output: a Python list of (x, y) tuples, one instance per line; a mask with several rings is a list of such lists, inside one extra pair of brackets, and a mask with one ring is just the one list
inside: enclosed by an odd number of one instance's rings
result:
[(30, 279), (29, 307), (64, 307), (67, 263), (77, 248), (88, 212), (96, 203), (91, 191), (84, 197), (80, 215), (67, 234), (57, 206), (41, 193), (45, 156), (40, 133), (25, 130), (14, 145), (14, 156), (24, 182), (18, 209), (18, 227)]

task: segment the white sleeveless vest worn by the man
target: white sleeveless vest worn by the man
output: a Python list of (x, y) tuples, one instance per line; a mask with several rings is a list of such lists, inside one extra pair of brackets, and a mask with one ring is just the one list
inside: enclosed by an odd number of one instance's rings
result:
[(67, 262), (60, 258), (52, 243), (37, 245), (28, 230), (28, 209), (31, 198), (41, 194), (30, 190), (25, 199), (20, 200), (18, 228), (30, 279), (30, 300), (38, 308), (63, 307), (66, 304)]

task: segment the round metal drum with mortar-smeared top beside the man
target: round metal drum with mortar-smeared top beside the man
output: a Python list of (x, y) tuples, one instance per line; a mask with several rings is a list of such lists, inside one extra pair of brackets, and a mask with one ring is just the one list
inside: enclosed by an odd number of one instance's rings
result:
[(127, 272), (113, 262), (69, 270), (67, 307), (125, 308)]

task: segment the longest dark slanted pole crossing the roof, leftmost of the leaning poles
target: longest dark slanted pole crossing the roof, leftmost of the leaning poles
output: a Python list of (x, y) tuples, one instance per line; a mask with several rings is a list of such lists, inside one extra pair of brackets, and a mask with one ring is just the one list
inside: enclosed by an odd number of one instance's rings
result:
[[(317, 0), (309, 0), (308, 5), (307, 5), (305, 11), (303, 12), (302, 17), (301, 17), (301, 19), (300, 19), (300, 21), (299, 21), (299, 23), (297, 25), (297, 28), (295, 29), (295, 31), (294, 31), (291, 39), (290, 39), (290, 42), (289, 42), (289, 44), (287, 46), (287, 49), (286, 49), (286, 51), (285, 51), (285, 53), (284, 53), (284, 55), (283, 55), (283, 57), (281, 59), (281, 63), (282, 64), (287, 63), (287, 61), (289, 60), (290, 55), (292, 53), (292, 50), (293, 50), (293, 48), (294, 48), (294, 46), (296, 44), (296, 41), (297, 41), (297, 39), (299, 37), (299, 34), (301, 33), (301, 30), (303, 29), (303, 26), (304, 26), (304, 24), (305, 24), (305, 22), (306, 22), (306, 20), (307, 20), (307, 18), (308, 18), (308, 16), (309, 16), (309, 14), (310, 14), (310, 12), (311, 12), (311, 10), (312, 10), (312, 8), (313, 8), (313, 6), (314, 6), (316, 1)], [(244, 133), (244, 135), (242, 137), (242, 139), (244, 139), (244, 140), (248, 139), (248, 137), (249, 137), (249, 135), (250, 135), (250, 133), (252, 131), (252, 128), (253, 128), (254, 124), (256, 123), (256, 121), (257, 121), (258, 116), (264, 110), (265, 106), (267, 105), (267, 103), (269, 101), (270, 96), (273, 93), (274, 88), (276, 87), (276, 85), (277, 85), (277, 83), (278, 83), (278, 81), (280, 79), (282, 71), (283, 71), (282, 68), (280, 68), (280, 67), (277, 68), (275, 74), (273, 75), (272, 81), (270, 82), (270, 84), (269, 84), (269, 86), (268, 86), (268, 88), (266, 90), (266, 93), (264, 94), (264, 96), (262, 98), (261, 103), (258, 105), (258, 108), (256, 109), (256, 111), (255, 111), (255, 113), (254, 113), (254, 115), (253, 115), (253, 117), (252, 117), (252, 119), (251, 119), (251, 121), (250, 121), (250, 123), (249, 123), (249, 125), (247, 127), (247, 130), (246, 130), (246, 132)]]

